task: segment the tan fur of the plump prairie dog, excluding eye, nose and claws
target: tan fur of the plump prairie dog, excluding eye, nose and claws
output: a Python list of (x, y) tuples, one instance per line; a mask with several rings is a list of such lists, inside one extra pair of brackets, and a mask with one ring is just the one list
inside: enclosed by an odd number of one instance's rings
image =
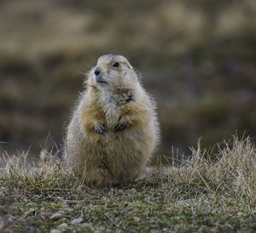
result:
[[(119, 67), (113, 67), (118, 61)], [(102, 69), (105, 83), (96, 82)], [(101, 187), (138, 178), (159, 138), (155, 105), (137, 73), (121, 55), (104, 55), (92, 68), (86, 90), (67, 128), (66, 159), (87, 185)], [(95, 127), (102, 124), (104, 134)], [(127, 128), (115, 132), (117, 125)]]

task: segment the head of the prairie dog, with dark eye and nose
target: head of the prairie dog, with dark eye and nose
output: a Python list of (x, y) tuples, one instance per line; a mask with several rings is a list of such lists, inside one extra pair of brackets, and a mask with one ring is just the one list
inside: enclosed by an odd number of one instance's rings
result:
[(132, 88), (137, 74), (122, 55), (102, 55), (92, 68), (89, 82), (99, 89)]

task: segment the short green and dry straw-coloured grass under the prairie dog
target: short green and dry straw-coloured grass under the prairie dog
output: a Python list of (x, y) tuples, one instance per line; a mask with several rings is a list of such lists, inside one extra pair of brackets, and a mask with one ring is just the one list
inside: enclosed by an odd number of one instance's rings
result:
[[(53, 153), (38, 164), (27, 164), (26, 154), (5, 156), (0, 228), (49, 232), (66, 223), (64, 232), (256, 230), (253, 139), (234, 136), (216, 154), (202, 150), (199, 141), (191, 151), (177, 166), (159, 165), (144, 179), (101, 190), (83, 185)], [(53, 213), (61, 218), (49, 219)], [(81, 224), (71, 223), (79, 217)]]

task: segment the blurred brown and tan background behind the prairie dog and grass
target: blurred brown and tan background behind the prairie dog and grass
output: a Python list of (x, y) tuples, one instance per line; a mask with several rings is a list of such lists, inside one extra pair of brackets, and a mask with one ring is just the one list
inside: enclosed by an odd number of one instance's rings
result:
[(123, 54), (158, 105), (159, 154), (256, 135), (255, 0), (1, 0), (0, 154), (61, 144), (84, 72)]

